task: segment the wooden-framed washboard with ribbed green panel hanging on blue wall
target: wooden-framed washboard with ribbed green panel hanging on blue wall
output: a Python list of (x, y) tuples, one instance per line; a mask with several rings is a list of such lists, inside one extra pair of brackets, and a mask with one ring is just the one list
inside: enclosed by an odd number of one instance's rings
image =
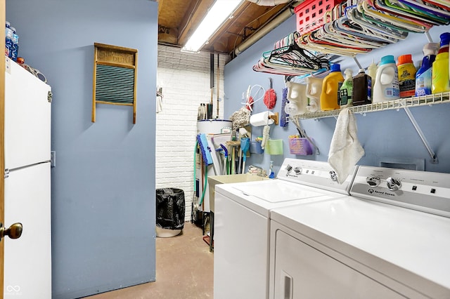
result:
[(136, 124), (136, 79), (138, 51), (132, 48), (94, 43), (92, 122), (96, 104), (133, 106)]

